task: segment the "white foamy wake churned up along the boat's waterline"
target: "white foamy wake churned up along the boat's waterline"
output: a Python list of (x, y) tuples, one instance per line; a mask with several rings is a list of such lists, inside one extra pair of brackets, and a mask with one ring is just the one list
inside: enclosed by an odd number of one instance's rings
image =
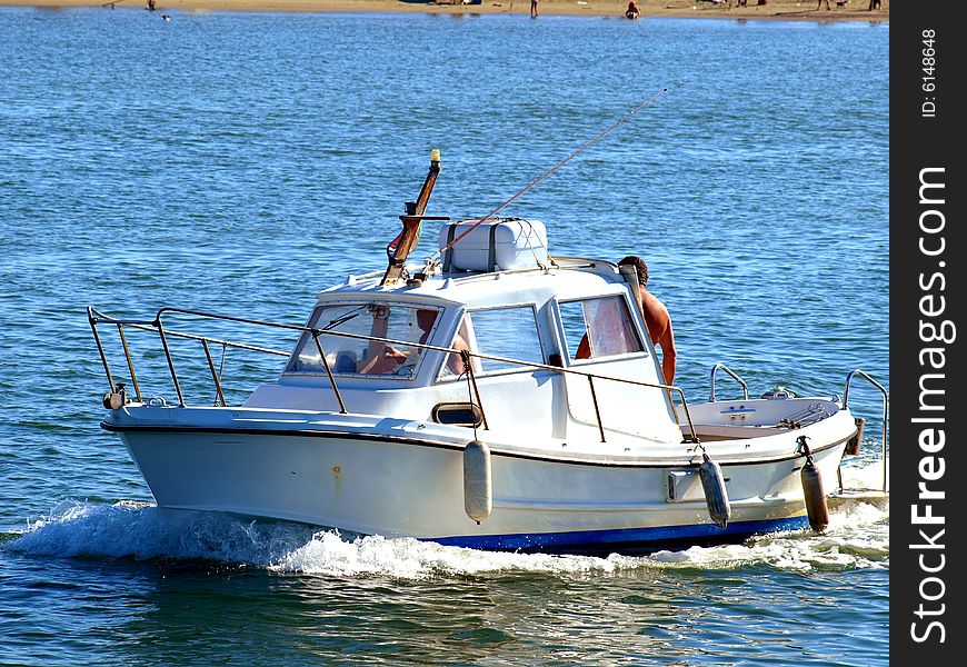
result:
[(218, 514), (167, 519), (153, 505), (66, 502), (47, 518), (0, 537), (0, 549), (27, 556), (203, 560), (280, 574), (425, 579), (492, 573), (612, 574), (636, 569), (784, 570), (889, 567), (889, 508), (847, 501), (825, 534), (774, 532), (739, 545), (649, 556), (552, 556), (445, 547), (412, 538), (353, 536), (287, 521)]

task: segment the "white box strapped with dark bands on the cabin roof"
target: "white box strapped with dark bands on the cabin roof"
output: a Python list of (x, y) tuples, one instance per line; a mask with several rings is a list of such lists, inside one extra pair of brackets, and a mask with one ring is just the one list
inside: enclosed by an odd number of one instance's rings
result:
[[(477, 220), (448, 222), (440, 229), (443, 248), (476, 225)], [(496, 218), (487, 220), (443, 253), (443, 272), (506, 271), (547, 265), (547, 229), (538, 220)]]

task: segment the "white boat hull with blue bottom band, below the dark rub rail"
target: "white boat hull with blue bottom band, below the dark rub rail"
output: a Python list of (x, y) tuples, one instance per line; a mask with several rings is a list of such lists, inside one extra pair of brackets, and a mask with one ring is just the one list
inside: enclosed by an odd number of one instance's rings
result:
[[(492, 511), (465, 514), (457, 441), (375, 434), (112, 427), (163, 510), (286, 519), (485, 549), (654, 550), (808, 526), (787, 456), (721, 461), (731, 516), (709, 517), (697, 467), (555, 459), (494, 448)], [(828, 490), (846, 436), (814, 445)], [(678, 480), (669, 498), (669, 478)]]

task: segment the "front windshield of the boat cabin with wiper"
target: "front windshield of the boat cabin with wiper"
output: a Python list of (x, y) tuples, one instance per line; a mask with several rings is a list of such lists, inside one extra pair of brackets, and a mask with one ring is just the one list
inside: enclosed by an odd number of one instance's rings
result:
[[(320, 331), (319, 346), (333, 375), (413, 378), (420, 350), (407, 342), (425, 344), (433, 335), (440, 310), (408, 303), (368, 302), (319, 306), (309, 326)], [(386, 338), (386, 344), (349, 338), (340, 334)], [(303, 332), (286, 372), (325, 374), (319, 346)]]

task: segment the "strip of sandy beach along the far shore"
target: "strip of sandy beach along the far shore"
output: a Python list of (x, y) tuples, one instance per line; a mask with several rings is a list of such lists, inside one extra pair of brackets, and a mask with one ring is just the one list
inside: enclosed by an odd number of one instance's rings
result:
[[(469, 1), (469, 0), (468, 0)], [(739, 7), (738, 0), (640, 0), (642, 18), (732, 18), (810, 21), (889, 21), (889, 0), (880, 9), (870, 10), (869, 0), (849, 0), (840, 4), (825, 1), (769, 0), (756, 4), (749, 0)], [(0, 0), (0, 6), (30, 6), (59, 9), (94, 7), (111, 9), (147, 9), (146, 0)], [(539, 0), (541, 16), (616, 16), (625, 13), (627, 0)], [(481, 0), (463, 4), (462, 0), (156, 0), (157, 11), (296, 11), (296, 12), (422, 12), (422, 13), (519, 13), (530, 12), (529, 0)]]

